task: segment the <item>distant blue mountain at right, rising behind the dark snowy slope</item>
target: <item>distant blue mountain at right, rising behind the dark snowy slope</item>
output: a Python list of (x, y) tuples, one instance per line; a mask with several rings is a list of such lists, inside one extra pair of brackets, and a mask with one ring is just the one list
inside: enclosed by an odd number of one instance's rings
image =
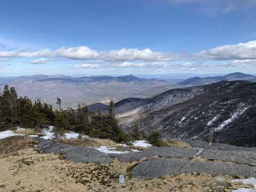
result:
[(243, 74), (240, 72), (228, 74), (225, 76), (216, 76), (216, 77), (204, 77), (200, 78), (198, 76), (186, 79), (180, 83), (177, 83), (178, 85), (184, 85), (184, 86), (199, 86), (199, 85), (206, 85), (210, 83), (217, 83), (223, 80), (227, 81), (234, 81), (234, 80), (249, 80), (252, 82), (256, 82), (256, 76), (254, 75), (248, 75)]

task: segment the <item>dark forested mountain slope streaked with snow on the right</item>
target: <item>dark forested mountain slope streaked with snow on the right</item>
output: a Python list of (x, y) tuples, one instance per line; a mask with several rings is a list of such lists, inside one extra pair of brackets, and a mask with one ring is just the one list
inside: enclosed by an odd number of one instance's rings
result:
[[(124, 99), (115, 106), (117, 118), (127, 131), (138, 122), (146, 132), (158, 126), (166, 139), (203, 139), (256, 147), (253, 82), (221, 81), (172, 89), (154, 98)], [(106, 106), (100, 107), (106, 112)]]

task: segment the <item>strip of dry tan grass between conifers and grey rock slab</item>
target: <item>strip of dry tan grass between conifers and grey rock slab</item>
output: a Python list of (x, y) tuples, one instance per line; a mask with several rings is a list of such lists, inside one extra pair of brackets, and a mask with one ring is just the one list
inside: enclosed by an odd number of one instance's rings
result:
[(61, 142), (65, 144), (71, 144), (79, 147), (117, 147), (118, 144), (110, 139), (98, 139), (98, 138), (82, 138), (82, 139), (64, 139)]

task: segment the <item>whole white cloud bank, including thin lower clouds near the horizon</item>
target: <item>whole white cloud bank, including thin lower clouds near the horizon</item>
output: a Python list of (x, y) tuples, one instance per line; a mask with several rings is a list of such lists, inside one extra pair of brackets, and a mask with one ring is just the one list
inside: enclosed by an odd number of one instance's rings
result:
[[(234, 45), (222, 45), (191, 54), (174, 54), (173, 52), (154, 52), (151, 49), (123, 48), (98, 52), (87, 46), (78, 46), (57, 50), (26, 49), (0, 50), (0, 61), (12, 58), (39, 57), (24, 63), (45, 64), (62, 58), (64, 60), (84, 60), (86, 63), (75, 64), (72, 68), (181, 68), (196, 70), (198, 67), (256, 67), (256, 41)], [(94, 63), (91, 63), (94, 61)], [(185, 61), (185, 62), (184, 62)], [(212, 64), (209, 61), (214, 61)], [(177, 64), (179, 63), (179, 64)]]

